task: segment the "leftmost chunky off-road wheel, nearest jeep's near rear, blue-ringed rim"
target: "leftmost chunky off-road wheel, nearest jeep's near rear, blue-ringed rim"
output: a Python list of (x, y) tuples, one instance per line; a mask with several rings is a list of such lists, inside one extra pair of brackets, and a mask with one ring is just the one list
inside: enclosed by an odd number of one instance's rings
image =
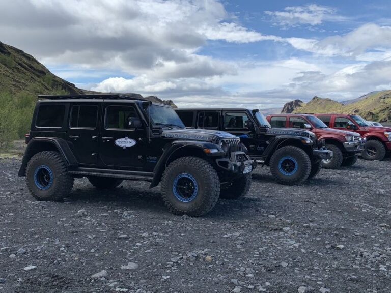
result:
[(27, 163), (26, 183), (37, 200), (61, 201), (73, 187), (73, 177), (58, 152), (35, 154)]

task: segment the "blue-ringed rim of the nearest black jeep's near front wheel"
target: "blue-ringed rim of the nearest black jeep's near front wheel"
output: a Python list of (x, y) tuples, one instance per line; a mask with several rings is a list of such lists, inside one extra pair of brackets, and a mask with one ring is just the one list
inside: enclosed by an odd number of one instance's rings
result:
[(190, 202), (197, 197), (198, 184), (193, 175), (181, 173), (173, 182), (173, 193), (182, 202)]

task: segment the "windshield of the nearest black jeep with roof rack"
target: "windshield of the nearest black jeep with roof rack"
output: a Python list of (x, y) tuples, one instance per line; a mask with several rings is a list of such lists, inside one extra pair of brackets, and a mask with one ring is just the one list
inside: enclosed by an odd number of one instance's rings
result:
[(155, 125), (162, 125), (168, 128), (185, 128), (178, 114), (171, 107), (150, 105), (145, 109), (151, 122)]

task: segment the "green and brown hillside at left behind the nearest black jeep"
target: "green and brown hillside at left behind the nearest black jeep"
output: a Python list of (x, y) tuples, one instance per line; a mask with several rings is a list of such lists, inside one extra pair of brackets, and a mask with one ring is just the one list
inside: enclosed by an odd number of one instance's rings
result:
[[(52, 74), (33, 56), (0, 42), (0, 151), (9, 148), (13, 139), (29, 132), (38, 95), (93, 93), (78, 89)], [(177, 107), (171, 100), (162, 101), (153, 96), (146, 99)]]

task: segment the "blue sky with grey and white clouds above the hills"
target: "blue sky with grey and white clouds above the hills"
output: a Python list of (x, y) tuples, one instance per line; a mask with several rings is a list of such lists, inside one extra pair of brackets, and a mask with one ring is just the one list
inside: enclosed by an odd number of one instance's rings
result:
[(391, 88), (384, 1), (2, 1), (0, 41), (83, 89), (280, 107)]

